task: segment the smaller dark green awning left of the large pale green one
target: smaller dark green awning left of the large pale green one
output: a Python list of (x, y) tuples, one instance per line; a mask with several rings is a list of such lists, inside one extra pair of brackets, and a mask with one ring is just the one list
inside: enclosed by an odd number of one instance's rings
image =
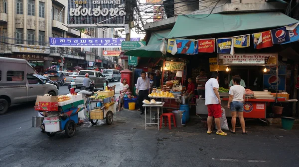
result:
[(138, 57), (161, 57), (162, 53), (160, 52), (160, 46), (162, 41), (159, 39), (165, 38), (170, 31), (171, 30), (162, 30), (152, 32), (147, 46), (128, 51), (124, 55)]

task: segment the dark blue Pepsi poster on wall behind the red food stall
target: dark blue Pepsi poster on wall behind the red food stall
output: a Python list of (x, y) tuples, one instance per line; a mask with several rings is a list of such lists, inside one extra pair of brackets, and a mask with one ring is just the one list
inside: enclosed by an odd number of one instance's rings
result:
[(277, 84), (279, 91), (286, 90), (286, 75), (264, 74), (264, 89), (276, 91)]

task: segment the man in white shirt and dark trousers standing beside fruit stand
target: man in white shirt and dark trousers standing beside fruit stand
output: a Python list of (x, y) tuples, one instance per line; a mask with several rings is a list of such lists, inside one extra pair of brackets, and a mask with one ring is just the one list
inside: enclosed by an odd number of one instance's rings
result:
[(141, 77), (138, 78), (136, 84), (136, 94), (138, 95), (138, 104), (140, 109), (140, 114), (145, 113), (145, 109), (143, 107), (143, 101), (145, 99), (149, 99), (150, 94), (150, 84), (149, 84), (149, 77), (146, 77), (146, 72), (141, 72)]

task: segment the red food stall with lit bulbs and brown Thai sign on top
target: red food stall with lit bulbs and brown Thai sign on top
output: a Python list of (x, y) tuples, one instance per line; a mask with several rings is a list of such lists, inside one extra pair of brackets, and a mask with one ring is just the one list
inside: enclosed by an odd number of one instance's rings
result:
[[(218, 54), (218, 65), (226, 66), (265, 66), (263, 72), (267, 72), (269, 66), (276, 67), (276, 79), (272, 82), (274, 92), (264, 91), (251, 91), (246, 89), (245, 104), (244, 104), (244, 118), (258, 118), (267, 123), (266, 111), (270, 103), (288, 103), (297, 102), (297, 100), (289, 100), (288, 94), (278, 92), (278, 84), (280, 80), (278, 79), (278, 54)], [(227, 72), (229, 70), (226, 70)], [(283, 81), (281, 81), (283, 82)], [(226, 111), (230, 111), (227, 108), (227, 103), (229, 100), (228, 89), (219, 88), (219, 95), (221, 98), (221, 106)], [(198, 99), (196, 104), (197, 114), (207, 114), (207, 107), (204, 105), (204, 99)], [(231, 117), (231, 112), (226, 112), (226, 116)]]

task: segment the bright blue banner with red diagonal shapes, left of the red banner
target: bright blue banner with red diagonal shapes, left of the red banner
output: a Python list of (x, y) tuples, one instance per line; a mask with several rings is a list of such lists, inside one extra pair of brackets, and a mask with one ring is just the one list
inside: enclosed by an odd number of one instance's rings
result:
[[(195, 54), (195, 40), (175, 40), (177, 47), (177, 54)], [(197, 44), (196, 44), (197, 47)], [(198, 50), (197, 50), (198, 53)]]

